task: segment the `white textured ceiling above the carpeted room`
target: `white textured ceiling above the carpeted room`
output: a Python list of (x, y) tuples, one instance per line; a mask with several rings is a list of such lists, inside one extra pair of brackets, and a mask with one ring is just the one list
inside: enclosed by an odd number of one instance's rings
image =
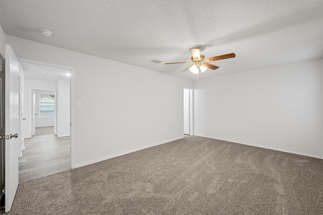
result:
[(6, 34), (187, 79), (188, 65), (165, 63), (190, 61), (196, 46), (206, 58), (236, 53), (199, 79), (323, 58), (323, 1), (1, 0), (0, 24)]

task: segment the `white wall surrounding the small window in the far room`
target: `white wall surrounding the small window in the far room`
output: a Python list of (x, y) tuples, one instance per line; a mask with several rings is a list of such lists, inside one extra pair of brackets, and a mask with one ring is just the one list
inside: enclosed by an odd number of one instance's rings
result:
[[(37, 81), (37, 85), (42, 84), (41, 81)], [(35, 83), (35, 82), (34, 82)], [(39, 110), (39, 100), (40, 94), (55, 94), (55, 91), (48, 91), (48, 90), (35, 90), (36, 91), (36, 128), (37, 127), (47, 127), (47, 126), (54, 126), (55, 125), (55, 117), (40, 117), (40, 110)]]

